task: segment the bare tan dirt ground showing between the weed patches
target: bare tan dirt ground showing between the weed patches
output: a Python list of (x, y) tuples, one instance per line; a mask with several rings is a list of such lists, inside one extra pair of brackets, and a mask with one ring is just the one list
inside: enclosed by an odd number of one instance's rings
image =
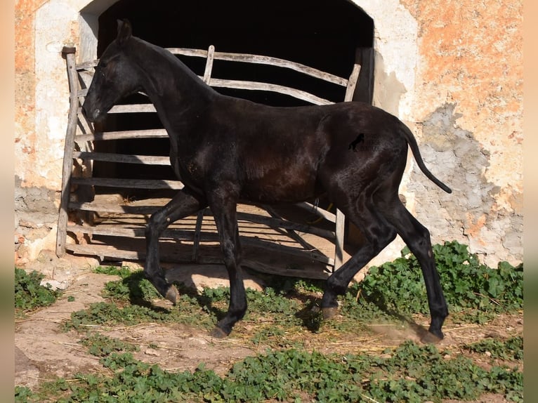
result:
[[(54, 376), (70, 378), (77, 372), (103, 371), (98, 357), (93, 357), (79, 343), (79, 334), (70, 331), (63, 332), (61, 324), (70, 318), (71, 312), (82, 310), (89, 304), (103, 300), (100, 293), (106, 282), (117, 279), (114, 276), (98, 275), (91, 272), (91, 260), (81, 258), (66, 259), (49, 256), (41, 264), (56, 267), (55, 277), (69, 285), (63, 296), (48, 308), (34, 312), (26, 319), (18, 320), (15, 324), (15, 385), (27, 385), (35, 388), (42, 381)], [(48, 260), (48, 261), (47, 261)], [(60, 267), (60, 268), (58, 268)], [(67, 270), (66, 267), (71, 267)], [(78, 267), (76, 270), (72, 267)], [(195, 286), (227, 285), (225, 269), (219, 265), (183, 265), (172, 267), (171, 272), (181, 272), (176, 279), (185, 284)], [(63, 272), (63, 277), (60, 275)], [(50, 277), (50, 276), (49, 276)], [(67, 280), (66, 278), (69, 277)], [(58, 280), (55, 280), (58, 281)], [(60, 281), (61, 283), (61, 281)], [(65, 284), (64, 284), (65, 285)], [(256, 275), (248, 275), (246, 286), (259, 289), (263, 282)], [(72, 297), (72, 298), (69, 298)], [(70, 302), (71, 300), (71, 302)], [(168, 304), (167, 301), (160, 303)], [(171, 305), (171, 304), (169, 304)], [(171, 307), (170, 307), (171, 308)], [(428, 318), (424, 318), (426, 326)], [(140, 324), (131, 327), (116, 327), (96, 329), (107, 336), (119, 338), (140, 347), (135, 353), (137, 359), (144, 362), (156, 363), (169, 370), (194, 370), (200, 363), (207, 369), (214, 369), (217, 374), (224, 374), (233, 363), (265, 351), (263, 345), (256, 348), (241, 338), (242, 330), (255, 323), (238, 322), (228, 338), (211, 338), (205, 331), (192, 329), (184, 325), (164, 326), (162, 324)], [(323, 332), (305, 333), (307, 338), (303, 343), (306, 348), (321, 352), (371, 352), (383, 351), (387, 347), (395, 347), (402, 341), (411, 339), (419, 341), (419, 336), (411, 329), (401, 329), (397, 325), (372, 326), (376, 336), (356, 335), (346, 339), (327, 337)], [(483, 338), (505, 338), (523, 333), (523, 314), (515, 316), (500, 316), (487, 325), (454, 324), (450, 317), (443, 329), (445, 339), (438, 348), (457, 347)], [(486, 356), (474, 355), (475, 362), (487, 366)], [(488, 395), (480, 402), (505, 402), (502, 397)]]

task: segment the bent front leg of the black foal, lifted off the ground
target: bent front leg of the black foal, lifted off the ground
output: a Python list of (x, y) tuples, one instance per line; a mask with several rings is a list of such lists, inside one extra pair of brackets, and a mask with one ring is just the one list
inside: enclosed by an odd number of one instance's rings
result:
[(159, 264), (159, 237), (171, 223), (185, 218), (205, 207), (192, 194), (180, 190), (165, 206), (152, 214), (145, 228), (146, 260), (144, 275), (167, 300), (176, 303), (178, 290), (169, 284)]

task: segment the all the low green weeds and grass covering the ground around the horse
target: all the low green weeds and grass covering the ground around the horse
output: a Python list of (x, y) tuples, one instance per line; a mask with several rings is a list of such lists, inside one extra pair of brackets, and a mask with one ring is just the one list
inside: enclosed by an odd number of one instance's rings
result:
[[(457, 242), (433, 249), (451, 315), (483, 323), (500, 313), (523, 310), (523, 265), (499, 263), (491, 269)], [(246, 345), (263, 344), (268, 350), (236, 362), (220, 376), (204, 364), (195, 371), (166, 371), (140, 362), (133, 357), (135, 346), (88, 333), (87, 325), (155, 322), (211, 329), (228, 308), (228, 288), (205, 289), (198, 295), (177, 284), (178, 303), (162, 308), (157, 303), (162, 297), (141, 271), (101, 267), (98, 272), (120, 279), (105, 285), (105, 302), (74, 312), (65, 328), (84, 335), (81, 345), (100, 357), (104, 370), (41, 383), (35, 392), (17, 387), (15, 402), (441, 402), (478, 399), (486, 392), (523, 402), (521, 336), (485, 339), (455, 350), (406, 341), (382, 354), (357, 349), (324, 354), (294, 341), (294, 333), (311, 336), (320, 329), (337, 329), (344, 340), (367, 332), (374, 321), (393, 324), (398, 318), (405, 322), (405, 315), (428, 315), (421, 270), (407, 249), (401, 258), (372, 267), (363, 282), (351, 286), (341, 296), (339, 317), (327, 324), (322, 324), (319, 310), (322, 282), (274, 277), (263, 291), (247, 290), (249, 310), (238, 324), (245, 330), (236, 336), (244, 337)], [(469, 359), (469, 352), (489, 352), (487, 369)], [(510, 361), (511, 367), (496, 365), (494, 359)]]

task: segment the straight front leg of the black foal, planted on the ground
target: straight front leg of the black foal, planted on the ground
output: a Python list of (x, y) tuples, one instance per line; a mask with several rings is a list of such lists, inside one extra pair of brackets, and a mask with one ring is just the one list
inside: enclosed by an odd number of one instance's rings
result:
[(230, 190), (215, 192), (209, 197), (209, 206), (213, 211), (218, 230), (223, 260), (230, 279), (230, 304), (225, 317), (218, 321), (211, 331), (211, 336), (223, 338), (232, 331), (235, 322), (247, 312), (247, 296), (244, 291), (241, 270), (241, 244), (237, 227), (237, 192)]

